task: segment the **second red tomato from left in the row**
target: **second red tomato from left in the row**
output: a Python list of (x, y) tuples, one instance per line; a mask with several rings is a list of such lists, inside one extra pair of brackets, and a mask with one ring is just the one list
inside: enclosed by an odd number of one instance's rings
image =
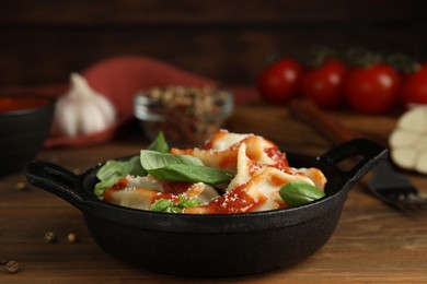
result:
[(328, 59), (318, 69), (308, 70), (301, 81), (302, 96), (323, 108), (334, 108), (344, 100), (346, 66), (339, 60)]

